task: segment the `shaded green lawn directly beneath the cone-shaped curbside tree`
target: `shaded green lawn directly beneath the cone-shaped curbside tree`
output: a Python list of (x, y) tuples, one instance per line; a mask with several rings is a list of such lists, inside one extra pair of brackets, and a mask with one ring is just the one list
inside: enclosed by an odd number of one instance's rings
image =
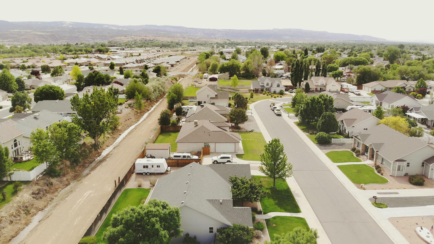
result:
[(276, 179), (276, 187), (273, 187), (273, 179), (268, 176), (252, 176), (256, 181), (261, 181), (264, 188), (270, 191), (262, 198), (261, 206), (264, 214), (270, 212), (300, 213), (301, 210), (284, 179)]

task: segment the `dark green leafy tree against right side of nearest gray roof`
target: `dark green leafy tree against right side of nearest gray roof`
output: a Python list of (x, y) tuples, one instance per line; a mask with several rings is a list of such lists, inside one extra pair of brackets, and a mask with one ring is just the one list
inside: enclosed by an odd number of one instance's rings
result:
[(232, 198), (241, 201), (241, 206), (244, 206), (244, 202), (260, 201), (267, 193), (270, 193), (267, 190), (263, 190), (264, 185), (262, 182), (246, 179), (245, 176), (241, 178), (229, 176), (229, 182), (232, 185), (230, 189)]

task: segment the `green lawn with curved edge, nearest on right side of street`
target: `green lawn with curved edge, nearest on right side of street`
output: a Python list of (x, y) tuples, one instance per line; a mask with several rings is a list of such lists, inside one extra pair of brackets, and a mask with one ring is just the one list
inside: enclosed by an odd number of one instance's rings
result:
[(339, 165), (338, 168), (354, 184), (386, 184), (389, 181), (375, 173), (375, 169), (366, 164)]

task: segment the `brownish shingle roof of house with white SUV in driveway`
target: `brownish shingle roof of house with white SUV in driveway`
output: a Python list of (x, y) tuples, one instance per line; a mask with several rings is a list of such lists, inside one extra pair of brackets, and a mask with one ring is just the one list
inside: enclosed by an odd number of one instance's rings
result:
[(176, 143), (239, 143), (240, 134), (222, 130), (211, 124), (208, 120), (199, 120), (184, 124), (179, 131)]

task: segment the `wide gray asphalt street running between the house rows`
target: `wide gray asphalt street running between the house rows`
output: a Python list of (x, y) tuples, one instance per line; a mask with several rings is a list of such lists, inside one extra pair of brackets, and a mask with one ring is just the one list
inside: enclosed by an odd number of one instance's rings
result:
[[(289, 98), (277, 101), (289, 101)], [(270, 103), (264, 101), (256, 104), (256, 114), (270, 137), (279, 138), (285, 147), (288, 161), (293, 165), (293, 177), (332, 244), (392, 244), (385, 232), (310, 147), (282, 117), (270, 110)]]

